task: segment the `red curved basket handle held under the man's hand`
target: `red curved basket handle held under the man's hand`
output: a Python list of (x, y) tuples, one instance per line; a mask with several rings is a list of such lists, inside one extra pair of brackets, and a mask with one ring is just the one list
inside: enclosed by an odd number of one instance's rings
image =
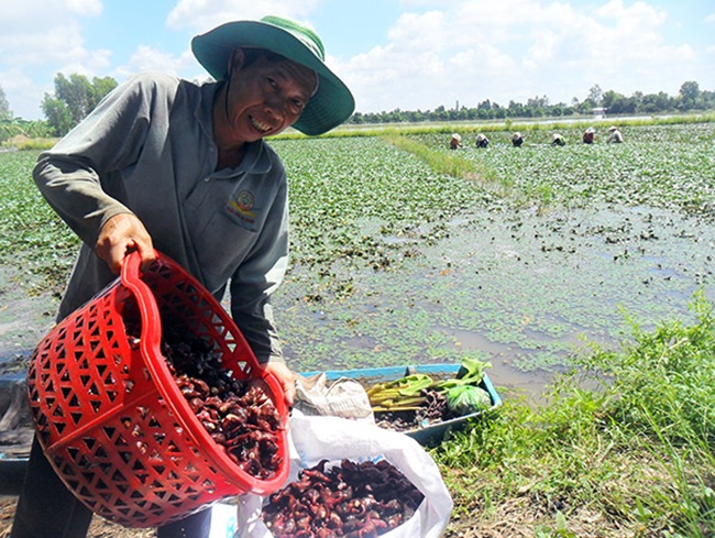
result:
[[(161, 254), (156, 252), (156, 260)], [(122, 263), (122, 285), (134, 294), (142, 320), (140, 347), (145, 356), (161, 356), (162, 319), (154, 293), (141, 278), (142, 257), (139, 251), (131, 252)]]

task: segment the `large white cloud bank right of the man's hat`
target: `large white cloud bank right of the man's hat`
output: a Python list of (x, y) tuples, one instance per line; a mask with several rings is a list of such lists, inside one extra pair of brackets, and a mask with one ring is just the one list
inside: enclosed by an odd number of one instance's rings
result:
[(487, 98), (506, 106), (543, 95), (570, 102), (594, 84), (625, 95), (674, 95), (683, 80), (704, 73), (693, 46), (664, 41), (668, 13), (642, 0), (461, 0), (440, 2), (438, 10), (429, 1), (402, 4), (414, 11), (395, 21), (388, 43), (341, 66), (359, 111), (425, 110), (457, 100), (473, 107)]

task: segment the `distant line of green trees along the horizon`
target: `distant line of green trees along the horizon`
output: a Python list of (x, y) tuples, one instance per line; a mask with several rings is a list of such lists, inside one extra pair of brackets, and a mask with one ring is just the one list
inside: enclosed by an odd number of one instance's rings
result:
[[(84, 75), (73, 74), (66, 77), (62, 73), (54, 79), (54, 94), (45, 94), (41, 108), (45, 120), (23, 120), (15, 118), (2, 87), (0, 87), (0, 142), (15, 135), (29, 138), (64, 136), (79, 123), (99, 101), (117, 87), (112, 77), (95, 77), (89, 80)], [(664, 91), (644, 94), (636, 91), (626, 97), (614, 90), (603, 91), (598, 85), (588, 90), (588, 96), (580, 101), (573, 98), (571, 103), (552, 105), (547, 96), (534, 97), (526, 103), (509, 101), (506, 107), (485, 99), (476, 107), (455, 107), (447, 109), (440, 106), (435, 110), (400, 110), (391, 112), (355, 112), (346, 123), (407, 123), (407, 122), (444, 122), (472, 120), (506, 120), (516, 118), (561, 118), (592, 114), (594, 109), (603, 108), (610, 114), (659, 114), (683, 113), (715, 110), (715, 91), (701, 90), (696, 81), (689, 80), (681, 85), (676, 96)]]

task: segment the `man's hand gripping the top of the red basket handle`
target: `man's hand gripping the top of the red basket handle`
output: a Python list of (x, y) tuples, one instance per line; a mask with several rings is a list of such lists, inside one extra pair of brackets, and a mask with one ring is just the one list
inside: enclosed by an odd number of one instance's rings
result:
[(105, 222), (95, 253), (114, 274), (121, 272), (124, 257), (133, 251), (139, 251), (143, 267), (156, 259), (152, 238), (142, 221), (132, 213), (120, 213)]

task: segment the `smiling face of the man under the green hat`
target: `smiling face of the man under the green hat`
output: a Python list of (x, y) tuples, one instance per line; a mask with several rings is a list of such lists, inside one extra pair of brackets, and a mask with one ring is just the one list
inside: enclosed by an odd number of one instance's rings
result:
[(233, 56), (224, 121), (233, 143), (278, 134), (295, 123), (316, 89), (316, 74), (294, 62), (261, 55), (244, 66)]

